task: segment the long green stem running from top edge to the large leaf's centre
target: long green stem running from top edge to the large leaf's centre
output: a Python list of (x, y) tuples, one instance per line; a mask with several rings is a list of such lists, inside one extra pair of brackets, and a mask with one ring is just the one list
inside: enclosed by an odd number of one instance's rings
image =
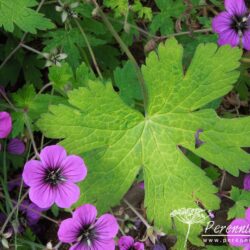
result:
[(91, 1), (95, 5), (95, 7), (96, 7), (98, 13), (100, 14), (104, 24), (107, 26), (110, 33), (113, 35), (113, 37), (115, 38), (117, 43), (120, 45), (121, 49), (127, 55), (129, 60), (133, 63), (133, 65), (134, 65), (134, 67), (136, 69), (137, 78), (139, 80), (139, 83), (140, 83), (140, 86), (141, 86), (141, 91), (142, 91), (142, 94), (143, 94), (143, 97), (144, 97), (143, 98), (144, 99), (144, 112), (145, 112), (145, 115), (147, 115), (147, 99), (148, 99), (148, 95), (147, 95), (147, 88), (145, 86), (144, 79), (143, 79), (143, 76), (142, 76), (142, 73), (141, 73), (141, 69), (140, 69), (139, 65), (137, 64), (134, 56), (132, 55), (132, 53), (128, 49), (127, 45), (123, 42), (123, 40), (121, 39), (119, 34), (116, 32), (116, 30), (114, 29), (114, 27), (112, 26), (112, 24), (110, 23), (110, 21), (108, 20), (106, 15), (103, 13), (103, 11), (100, 8), (99, 4), (96, 2), (96, 0), (91, 0)]

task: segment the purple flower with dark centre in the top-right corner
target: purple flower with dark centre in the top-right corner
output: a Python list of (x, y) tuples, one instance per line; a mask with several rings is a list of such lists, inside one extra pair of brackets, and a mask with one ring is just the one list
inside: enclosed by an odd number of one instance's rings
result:
[(250, 19), (244, 0), (225, 0), (225, 8), (212, 22), (214, 32), (219, 34), (219, 45), (235, 47), (242, 43), (250, 50)]

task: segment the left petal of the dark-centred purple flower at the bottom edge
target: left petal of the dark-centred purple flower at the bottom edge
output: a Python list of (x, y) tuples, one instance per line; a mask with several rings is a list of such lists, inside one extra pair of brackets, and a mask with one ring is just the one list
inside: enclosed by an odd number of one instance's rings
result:
[(62, 221), (57, 235), (61, 242), (72, 243), (77, 241), (80, 230), (79, 224), (70, 218)]

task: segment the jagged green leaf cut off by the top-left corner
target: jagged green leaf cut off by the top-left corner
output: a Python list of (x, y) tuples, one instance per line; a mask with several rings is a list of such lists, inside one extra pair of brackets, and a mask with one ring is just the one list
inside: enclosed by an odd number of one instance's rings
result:
[(36, 34), (37, 30), (54, 28), (54, 24), (42, 14), (31, 9), (36, 0), (0, 0), (0, 27), (13, 32), (14, 24), (21, 30)]

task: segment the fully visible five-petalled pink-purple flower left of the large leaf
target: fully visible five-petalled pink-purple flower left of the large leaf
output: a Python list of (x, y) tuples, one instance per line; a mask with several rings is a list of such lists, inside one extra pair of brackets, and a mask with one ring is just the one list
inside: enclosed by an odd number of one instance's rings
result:
[(53, 145), (41, 151), (40, 159), (28, 161), (23, 170), (23, 180), (30, 187), (30, 200), (41, 208), (48, 208), (54, 202), (58, 207), (69, 208), (80, 196), (74, 183), (87, 174), (82, 158), (67, 156), (63, 147)]

